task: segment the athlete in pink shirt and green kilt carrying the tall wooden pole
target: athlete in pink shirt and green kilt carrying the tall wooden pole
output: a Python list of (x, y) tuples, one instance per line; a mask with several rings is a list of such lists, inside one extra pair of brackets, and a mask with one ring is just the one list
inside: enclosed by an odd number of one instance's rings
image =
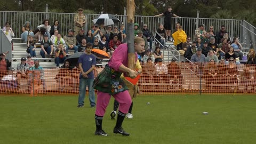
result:
[[(134, 38), (134, 54), (135, 62), (138, 59), (137, 52), (140, 53), (144, 49), (145, 41), (140, 37)], [(105, 115), (106, 108), (108, 106), (111, 95), (119, 103), (119, 110), (117, 114), (116, 126), (113, 132), (122, 135), (130, 135), (122, 128), (122, 123), (132, 103), (131, 96), (129, 94), (128, 87), (120, 76), (124, 73), (124, 76), (135, 78), (138, 72), (127, 68), (128, 65), (128, 47), (127, 43), (121, 44), (114, 51), (110, 58), (108, 65), (101, 71), (101, 73), (94, 80), (94, 89), (98, 90), (97, 105), (95, 111), (95, 135), (107, 136), (108, 134), (102, 130), (102, 119)]]

